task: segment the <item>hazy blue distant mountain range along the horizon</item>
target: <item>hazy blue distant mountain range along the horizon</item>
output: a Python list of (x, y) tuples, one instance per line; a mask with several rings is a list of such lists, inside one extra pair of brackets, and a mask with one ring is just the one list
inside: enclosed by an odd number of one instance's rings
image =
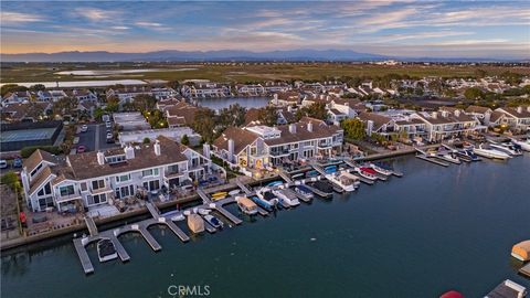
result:
[(222, 51), (156, 51), (147, 53), (94, 52), (59, 52), (1, 54), (2, 62), (161, 62), (161, 61), (383, 61), (395, 58), (401, 61), (423, 62), (499, 62), (517, 61), (500, 58), (442, 58), (442, 57), (391, 57), (350, 50), (289, 50), (271, 52), (250, 52), (236, 50)]

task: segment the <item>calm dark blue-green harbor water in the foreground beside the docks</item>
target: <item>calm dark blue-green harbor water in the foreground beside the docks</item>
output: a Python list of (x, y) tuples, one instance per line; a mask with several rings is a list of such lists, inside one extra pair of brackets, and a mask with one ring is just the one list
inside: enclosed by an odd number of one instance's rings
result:
[(394, 167), (405, 175), (187, 244), (153, 227), (160, 253), (124, 235), (131, 260), (98, 264), (92, 247), (89, 276), (71, 238), (8, 253), (2, 297), (170, 297), (171, 285), (208, 285), (210, 297), (484, 297), (506, 278), (530, 287), (510, 257), (530, 238), (530, 155)]

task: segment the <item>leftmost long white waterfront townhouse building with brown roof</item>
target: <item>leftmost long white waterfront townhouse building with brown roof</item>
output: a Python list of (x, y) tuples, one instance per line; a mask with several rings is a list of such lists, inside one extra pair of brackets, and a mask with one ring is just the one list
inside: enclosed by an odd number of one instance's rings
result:
[(156, 193), (202, 179), (208, 157), (158, 137), (152, 145), (128, 145), (64, 158), (36, 150), (23, 163), (21, 180), (30, 210), (59, 211), (114, 205), (137, 191)]

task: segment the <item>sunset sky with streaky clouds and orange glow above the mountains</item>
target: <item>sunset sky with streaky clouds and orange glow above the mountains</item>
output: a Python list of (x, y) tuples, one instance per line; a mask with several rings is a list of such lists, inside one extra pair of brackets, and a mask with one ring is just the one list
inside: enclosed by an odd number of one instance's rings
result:
[(530, 1), (3, 1), (1, 53), (348, 49), (530, 57)]

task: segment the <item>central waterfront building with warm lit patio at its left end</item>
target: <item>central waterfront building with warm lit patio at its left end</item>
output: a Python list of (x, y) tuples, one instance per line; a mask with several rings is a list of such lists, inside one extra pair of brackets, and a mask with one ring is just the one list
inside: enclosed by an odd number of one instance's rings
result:
[(212, 143), (212, 153), (232, 167), (264, 169), (340, 152), (343, 130), (325, 121), (304, 117), (276, 127), (230, 127)]

